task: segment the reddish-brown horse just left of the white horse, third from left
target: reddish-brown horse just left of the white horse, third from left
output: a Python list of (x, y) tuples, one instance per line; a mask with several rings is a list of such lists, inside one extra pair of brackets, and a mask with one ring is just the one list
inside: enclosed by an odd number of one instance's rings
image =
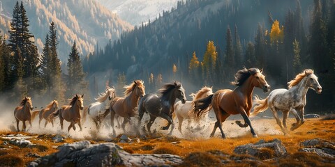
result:
[(61, 109), (57, 110), (56, 112), (50, 114), (48, 119), (53, 119), (56, 116), (59, 116), (59, 120), (61, 122), (61, 129), (63, 129), (63, 121), (66, 120), (70, 122), (70, 126), (68, 126), (68, 132), (70, 131), (71, 127), (75, 130), (75, 124), (77, 123), (80, 127), (80, 131), (82, 131), (82, 125), (80, 122), (80, 110), (84, 109), (84, 95), (78, 96), (75, 95), (70, 100), (69, 105), (61, 106)]

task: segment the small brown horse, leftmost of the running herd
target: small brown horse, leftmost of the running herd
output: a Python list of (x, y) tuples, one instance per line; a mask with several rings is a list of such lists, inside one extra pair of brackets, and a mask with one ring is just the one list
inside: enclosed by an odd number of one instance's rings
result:
[(20, 102), (20, 106), (17, 106), (14, 110), (14, 117), (16, 120), (16, 127), (17, 132), (20, 132), (19, 129), (19, 122), (20, 120), (23, 122), (22, 131), (26, 131), (26, 121), (29, 121), (30, 126), (31, 120), (34, 120), (34, 118), (38, 115), (39, 111), (34, 111), (31, 113), (31, 110), (33, 109), (33, 102), (31, 102), (30, 97), (24, 97), (22, 101)]

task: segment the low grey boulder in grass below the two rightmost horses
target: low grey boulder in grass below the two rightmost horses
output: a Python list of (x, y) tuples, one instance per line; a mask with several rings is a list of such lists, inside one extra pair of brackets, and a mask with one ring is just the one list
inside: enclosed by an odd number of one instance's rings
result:
[(285, 146), (278, 139), (269, 142), (260, 140), (258, 143), (239, 145), (234, 149), (235, 154), (250, 154), (260, 159), (281, 157), (286, 154), (286, 152)]

